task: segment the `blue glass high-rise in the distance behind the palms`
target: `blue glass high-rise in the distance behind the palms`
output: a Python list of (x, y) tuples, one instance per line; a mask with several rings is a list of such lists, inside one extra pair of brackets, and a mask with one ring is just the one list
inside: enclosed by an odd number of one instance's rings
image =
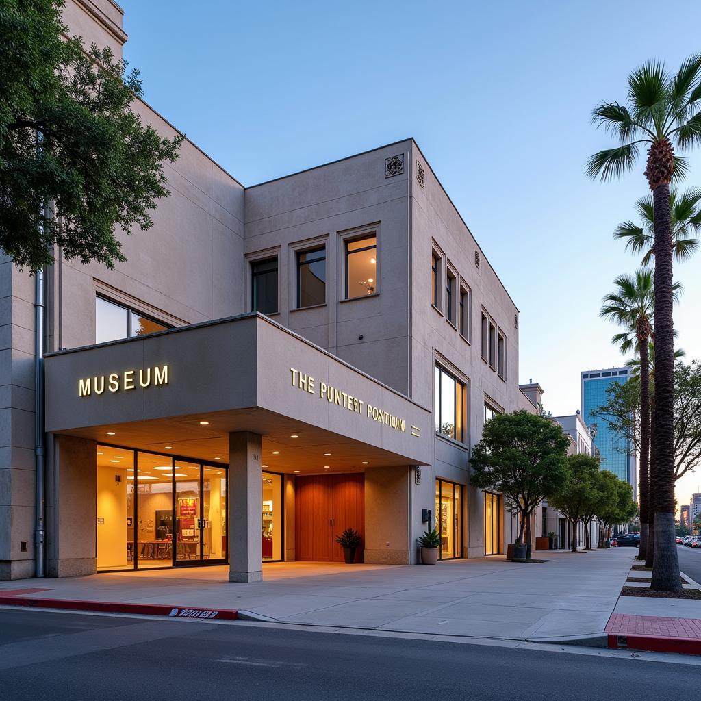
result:
[(594, 436), (594, 447), (601, 456), (601, 468), (629, 482), (633, 497), (637, 498), (636, 456), (632, 442), (614, 433), (605, 418), (592, 416), (594, 411), (608, 402), (606, 390), (611, 384), (624, 383), (629, 376), (629, 367), (585, 370), (581, 376), (582, 414)]

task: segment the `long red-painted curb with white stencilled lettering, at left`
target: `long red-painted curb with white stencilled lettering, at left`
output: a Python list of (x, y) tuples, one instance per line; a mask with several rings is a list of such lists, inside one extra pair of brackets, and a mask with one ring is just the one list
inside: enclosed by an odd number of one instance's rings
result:
[(38, 599), (22, 596), (0, 595), (2, 606), (31, 606), (32, 608), (61, 608), (66, 611), (97, 611), (99, 613), (137, 613), (139, 615), (163, 615), (168, 618), (200, 618), (236, 620), (238, 611), (233, 608), (187, 608), (166, 604), (120, 604), (116, 601), (76, 601), (74, 599)]

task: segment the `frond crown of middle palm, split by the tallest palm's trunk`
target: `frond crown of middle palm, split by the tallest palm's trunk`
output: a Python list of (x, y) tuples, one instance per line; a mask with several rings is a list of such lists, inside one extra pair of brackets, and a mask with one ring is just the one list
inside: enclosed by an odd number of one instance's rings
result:
[[(613, 238), (625, 240), (633, 254), (643, 254), (641, 265), (649, 266), (655, 255), (655, 205), (653, 196), (641, 197), (635, 208), (642, 224), (623, 222), (613, 232)], [(676, 187), (669, 190), (669, 210), (672, 214), (672, 247), (674, 259), (681, 263), (698, 249), (699, 240), (693, 236), (701, 231), (701, 188), (693, 187), (681, 195)]]

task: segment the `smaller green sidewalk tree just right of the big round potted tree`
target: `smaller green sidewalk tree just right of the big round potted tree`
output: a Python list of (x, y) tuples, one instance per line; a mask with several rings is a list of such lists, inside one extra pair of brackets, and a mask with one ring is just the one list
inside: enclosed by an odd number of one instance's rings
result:
[(548, 505), (559, 509), (572, 524), (572, 552), (578, 552), (577, 524), (594, 515), (601, 497), (598, 489), (599, 464), (599, 458), (585, 453), (568, 455), (564, 471), (565, 478), (547, 497)]

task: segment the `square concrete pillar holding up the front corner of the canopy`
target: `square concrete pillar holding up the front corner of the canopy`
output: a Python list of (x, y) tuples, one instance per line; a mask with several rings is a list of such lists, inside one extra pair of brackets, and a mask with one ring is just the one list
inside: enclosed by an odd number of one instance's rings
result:
[(261, 569), (261, 455), (256, 433), (229, 434), (229, 581), (259, 582)]

